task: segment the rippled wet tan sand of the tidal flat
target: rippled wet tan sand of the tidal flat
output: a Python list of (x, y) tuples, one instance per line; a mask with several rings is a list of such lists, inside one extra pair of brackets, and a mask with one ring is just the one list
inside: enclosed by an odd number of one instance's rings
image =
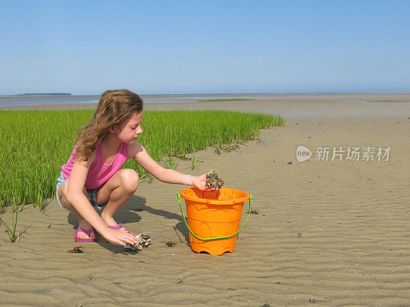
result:
[[(101, 236), (96, 244), (75, 243), (75, 218), (55, 199), (45, 213), (25, 206), (18, 214), (18, 243), (9, 243), (1, 227), (0, 304), (410, 305), (410, 95), (377, 100), (390, 102), (253, 101), (255, 111), (281, 114), (288, 125), (262, 130), (260, 140), (235, 151), (195, 153), (203, 161), (198, 170), (179, 163), (185, 173), (215, 169), (226, 187), (253, 194), (259, 214), (251, 214), (233, 253), (192, 252), (176, 198), (185, 188), (180, 185), (141, 182), (115, 216), (133, 233), (151, 235), (152, 245), (139, 253)], [(223, 102), (208, 108), (251, 106)], [(309, 161), (297, 161), (299, 145), (313, 151)], [(346, 153), (343, 161), (316, 161), (319, 146), (391, 151), (388, 161), (349, 161)], [(10, 214), (2, 218), (10, 220)], [(177, 245), (168, 247), (167, 240)], [(84, 253), (68, 253), (78, 246)]]

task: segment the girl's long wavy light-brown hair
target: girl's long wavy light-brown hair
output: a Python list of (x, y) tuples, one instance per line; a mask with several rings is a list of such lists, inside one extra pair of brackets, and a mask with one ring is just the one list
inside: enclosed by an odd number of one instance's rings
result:
[(91, 152), (109, 133), (128, 117), (142, 112), (142, 98), (129, 90), (109, 90), (99, 98), (92, 120), (78, 129), (75, 157), (88, 160)]

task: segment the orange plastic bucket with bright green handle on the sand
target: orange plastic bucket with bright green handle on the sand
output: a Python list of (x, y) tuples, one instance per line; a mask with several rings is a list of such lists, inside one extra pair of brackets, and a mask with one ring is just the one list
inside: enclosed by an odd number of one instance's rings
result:
[[(187, 206), (188, 223), (183, 214), (181, 197)], [(251, 213), (252, 194), (231, 188), (212, 192), (189, 188), (178, 193), (178, 200), (194, 252), (222, 255), (234, 251), (238, 233), (247, 224)], [(243, 204), (248, 200), (248, 218), (239, 229)]]

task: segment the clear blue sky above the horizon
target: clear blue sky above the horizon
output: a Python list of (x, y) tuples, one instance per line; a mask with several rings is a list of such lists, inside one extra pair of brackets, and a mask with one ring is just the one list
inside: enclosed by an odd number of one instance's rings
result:
[(3, 1), (0, 95), (409, 92), (409, 1)]

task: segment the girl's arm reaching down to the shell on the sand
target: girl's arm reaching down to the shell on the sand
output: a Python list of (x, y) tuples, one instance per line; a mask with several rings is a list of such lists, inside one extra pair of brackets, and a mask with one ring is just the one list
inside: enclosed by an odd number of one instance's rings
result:
[(88, 170), (94, 160), (95, 151), (87, 161), (75, 161), (67, 185), (67, 200), (106, 239), (124, 246), (126, 243), (134, 245), (136, 243), (135, 236), (125, 231), (109, 228), (84, 194)]

